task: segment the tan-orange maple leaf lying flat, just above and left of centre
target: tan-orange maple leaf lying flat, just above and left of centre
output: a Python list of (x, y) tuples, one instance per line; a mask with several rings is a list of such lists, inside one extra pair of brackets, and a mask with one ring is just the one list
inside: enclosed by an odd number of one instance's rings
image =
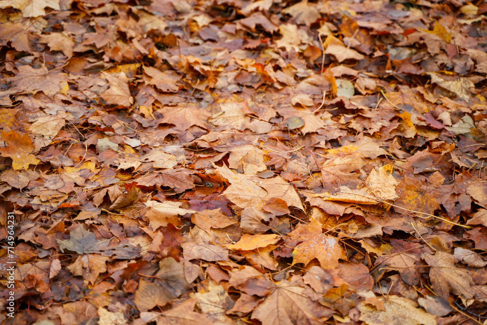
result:
[(186, 131), (193, 125), (208, 128), (206, 120), (210, 114), (198, 109), (196, 105), (186, 104), (179, 107), (165, 107), (159, 112), (162, 113), (162, 123), (174, 124), (175, 129), (181, 132)]

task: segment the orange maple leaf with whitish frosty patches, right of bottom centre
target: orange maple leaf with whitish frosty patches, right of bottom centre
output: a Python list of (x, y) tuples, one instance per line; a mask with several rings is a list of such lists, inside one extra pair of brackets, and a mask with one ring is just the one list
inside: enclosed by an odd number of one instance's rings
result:
[(338, 259), (346, 259), (345, 252), (338, 245), (334, 237), (323, 233), (321, 225), (312, 220), (308, 225), (299, 225), (289, 233), (290, 237), (297, 237), (301, 242), (293, 250), (293, 264), (308, 264), (316, 258), (322, 268), (336, 268)]

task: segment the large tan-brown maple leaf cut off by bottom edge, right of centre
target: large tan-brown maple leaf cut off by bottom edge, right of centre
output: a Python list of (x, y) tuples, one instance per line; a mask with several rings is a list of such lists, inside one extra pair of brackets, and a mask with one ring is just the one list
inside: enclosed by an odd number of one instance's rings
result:
[(319, 319), (330, 317), (331, 310), (308, 298), (304, 290), (281, 281), (271, 287), (271, 294), (255, 308), (252, 319), (261, 321), (262, 325), (322, 324)]

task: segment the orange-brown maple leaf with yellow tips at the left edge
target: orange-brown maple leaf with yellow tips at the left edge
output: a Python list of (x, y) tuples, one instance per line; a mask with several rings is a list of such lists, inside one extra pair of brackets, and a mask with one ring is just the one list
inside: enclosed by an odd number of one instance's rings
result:
[(7, 144), (6, 147), (0, 147), (0, 153), (3, 157), (12, 158), (12, 168), (14, 170), (27, 170), (29, 165), (37, 165), (40, 160), (32, 153), (34, 152), (34, 145), (29, 137), (29, 134), (18, 134), (15, 131), (1, 133), (2, 140)]

